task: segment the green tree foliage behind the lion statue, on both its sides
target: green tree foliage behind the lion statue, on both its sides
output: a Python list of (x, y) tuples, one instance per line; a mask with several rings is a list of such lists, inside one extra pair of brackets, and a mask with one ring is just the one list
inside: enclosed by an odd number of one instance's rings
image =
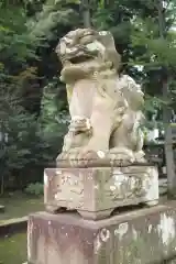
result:
[[(0, 151), (6, 185), (13, 182), (14, 186), (20, 180), (25, 186), (35, 182), (36, 175), (42, 178), (43, 164), (54, 161), (62, 146), (67, 102), (58, 79), (62, 65), (55, 47), (68, 31), (84, 26), (85, 2), (0, 3), (0, 132), (9, 134), (9, 142), (1, 142)], [(162, 1), (164, 25), (160, 3), (160, 0), (89, 0), (86, 8), (94, 28), (112, 32), (122, 55), (121, 72), (142, 84), (147, 120), (157, 112), (156, 119), (162, 122), (164, 106), (176, 108), (176, 2)], [(164, 101), (162, 84), (166, 73), (169, 94)]]

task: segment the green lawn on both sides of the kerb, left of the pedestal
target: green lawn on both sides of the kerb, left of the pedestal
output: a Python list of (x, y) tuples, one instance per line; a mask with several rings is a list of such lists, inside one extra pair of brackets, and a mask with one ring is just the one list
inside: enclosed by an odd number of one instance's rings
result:
[[(6, 206), (6, 211), (0, 213), (0, 223), (44, 209), (43, 197), (36, 198), (19, 193), (0, 198), (0, 205)], [(26, 232), (0, 238), (0, 264), (24, 262), (26, 262)]]

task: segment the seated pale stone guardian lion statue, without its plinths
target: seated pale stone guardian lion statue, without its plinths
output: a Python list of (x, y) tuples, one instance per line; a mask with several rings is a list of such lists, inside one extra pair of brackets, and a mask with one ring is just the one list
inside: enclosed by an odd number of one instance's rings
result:
[(72, 31), (56, 52), (72, 118), (57, 166), (145, 162), (140, 129), (144, 95), (130, 76), (119, 74), (121, 58), (111, 33)]

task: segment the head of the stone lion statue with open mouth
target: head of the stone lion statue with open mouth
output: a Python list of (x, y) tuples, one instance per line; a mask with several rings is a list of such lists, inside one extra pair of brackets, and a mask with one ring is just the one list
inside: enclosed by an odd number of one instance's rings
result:
[(95, 73), (120, 67), (120, 55), (110, 32), (78, 29), (69, 32), (56, 48), (63, 64), (62, 81), (69, 84)]

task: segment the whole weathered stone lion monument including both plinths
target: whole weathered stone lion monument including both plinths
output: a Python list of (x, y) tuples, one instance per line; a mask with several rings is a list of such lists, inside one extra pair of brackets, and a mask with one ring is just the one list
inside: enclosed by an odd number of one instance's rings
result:
[[(57, 54), (70, 124), (57, 168), (44, 172), (47, 212), (29, 219), (29, 263), (163, 260), (176, 248), (173, 208), (156, 206), (102, 220), (120, 207), (158, 202), (157, 168), (146, 164), (142, 151), (141, 87), (119, 74), (120, 55), (110, 32), (72, 31), (61, 40)], [(67, 212), (59, 213), (62, 208)], [(75, 209), (79, 213), (70, 212)]]

